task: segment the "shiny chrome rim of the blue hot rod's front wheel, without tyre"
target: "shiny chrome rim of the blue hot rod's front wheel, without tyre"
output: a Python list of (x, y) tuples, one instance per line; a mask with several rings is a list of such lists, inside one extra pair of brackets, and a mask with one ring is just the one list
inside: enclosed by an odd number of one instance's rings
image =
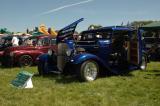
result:
[(98, 74), (98, 68), (96, 63), (89, 62), (84, 67), (84, 77), (87, 81), (93, 81)]

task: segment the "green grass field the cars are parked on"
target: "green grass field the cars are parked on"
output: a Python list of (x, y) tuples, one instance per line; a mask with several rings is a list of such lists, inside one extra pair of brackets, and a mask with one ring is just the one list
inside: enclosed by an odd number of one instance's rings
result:
[(0, 106), (160, 106), (160, 62), (151, 62), (145, 72), (90, 83), (75, 77), (34, 76), (33, 89), (10, 85), (21, 70), (37, 73), (36, 67), (0, 68)]

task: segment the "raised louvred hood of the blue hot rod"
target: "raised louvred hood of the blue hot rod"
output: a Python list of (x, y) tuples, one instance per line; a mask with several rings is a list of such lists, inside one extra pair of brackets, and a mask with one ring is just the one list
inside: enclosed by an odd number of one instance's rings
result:
[(59, 32), (58, 32), (58, 35), (57, 35), (57, 43), (63, 41), (64, 39), (66, 38), (72, 38), (73, 37), (73, 34), (74, 34), (74, 31), (77, 27), (77, 24), (80, 23), (81, 21), (83, 21), (84, 18), (81, 18), (75, 22), (73, 22), (72, 24), (62, 28)]

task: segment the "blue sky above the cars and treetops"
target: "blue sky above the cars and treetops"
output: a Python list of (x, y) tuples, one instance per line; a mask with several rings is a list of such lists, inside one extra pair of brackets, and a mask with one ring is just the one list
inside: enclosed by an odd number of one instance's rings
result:
[(59, 30), (79, 18), (80, 32), (90, 24), (160, 20), (160, 0), (0, 0), (0, 28), (25, 32), (40, 24)]

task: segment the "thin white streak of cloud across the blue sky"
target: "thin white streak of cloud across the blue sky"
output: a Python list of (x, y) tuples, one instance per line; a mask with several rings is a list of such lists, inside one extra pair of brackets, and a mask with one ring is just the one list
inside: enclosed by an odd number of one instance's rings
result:
[(69, 8), (69, 7), (73, 7), (73, 6), (81, 5), (81, 4), (86, 4), (86, 3), (92, 2), (92, 1), (94, 1), (94, 0), (86, 0), (86, 1), (81, 1), (81, 2), (78, 2), (78, 3), (73, 3), (73, 4), (64, 5), (64, 6), (61, 6), (61, 7), (54, 8), (54, 9), (52, 9), (52, 10), (43, 12), (43, 13), (41, 13), (41, 14), (39, 14), (39, 15), (41, 16), (41, 15), (50, 14), (50, 13), (53, 13), (53, 12), (56, 12), (56, 11), (60, 11), (60, 10), (65, 9), (65, 8)]

